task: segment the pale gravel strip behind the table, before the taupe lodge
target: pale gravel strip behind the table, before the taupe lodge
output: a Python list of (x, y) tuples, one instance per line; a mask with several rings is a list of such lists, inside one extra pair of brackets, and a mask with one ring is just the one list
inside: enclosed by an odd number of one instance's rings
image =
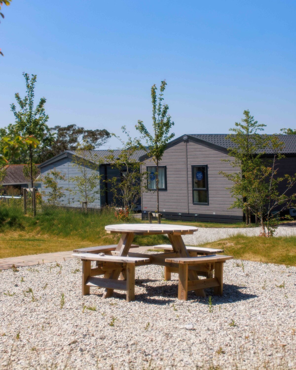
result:
[[(258, 236), (261, 232), (261, 228), (198, 228), (198, 232), (193, 235), (184, 235), (182, 238), (187, 245), (201, 245), (237, 234)], [(279, 226), (275, 232), (275, 236), (293, 235), (296, 235), (296, 227)]]

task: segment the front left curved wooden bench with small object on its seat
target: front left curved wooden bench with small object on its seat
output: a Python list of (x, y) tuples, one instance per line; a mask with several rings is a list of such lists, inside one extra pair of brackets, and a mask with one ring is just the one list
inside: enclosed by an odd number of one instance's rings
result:
[[(99, 256), (95, 253), (74, 253), (74, 258), (82, 260), (82, 295), (90, 294), (90, 287), (100, 287), (115, 290), (125, 290), (127, 292), (127, 302), (135, 299), (135, 265), (149, 262), (149, 258), (141, 257), (118, 257), (118, 256)], [(91, 268), (91, 261), (98, 261), (101, 267)], [(124, 270), (125, 280), (106, 279), (95, 277), (103, 275), (112, 270)]]

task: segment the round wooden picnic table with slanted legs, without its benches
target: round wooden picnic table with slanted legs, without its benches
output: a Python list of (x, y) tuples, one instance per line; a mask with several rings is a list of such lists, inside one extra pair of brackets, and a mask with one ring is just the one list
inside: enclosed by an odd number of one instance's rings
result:
[[(159, 235), (167, 234), (169, 241), (171, 242), (173, 253), (161, 253), (155, 256), (155, 259), (151, 261), (152, 264), (165, 266), (165, 259), (168, 256), (172, 257), (185, 257), (189, 258), (190, 255), (186, 250), (186, 246), (182, 239), (182, 235), (192, 235), (198, 231), (198, 228), (194, 226), (183, 226), (183, 225), (166, 225), (166, 224), (145, 224), (145, 223), (129, 223), (120, 225), (107, 225), (105, 226), (107, 233), (121, 233), (120, 241), (115, 249), (114, 255), (116, 256), (127, 256), (128, 254), (133, 256), (135, 253), (129, 253), (132, 241), (135, 235)], [(137, 253), (139, 256), (139, 254)], [(104, 278), (118, 279), (120, 276), (120, 270), (112, 270), (107, 272)], [(189, 280), (198, 280), (198, 274), (194, 270), (188, 271)], [(104, 298), (110, 297), (113, 293), (112, 289), (105, 289), (103, 294)], [(203, 289), (196, 289), (196, 295), (205, 297)]]

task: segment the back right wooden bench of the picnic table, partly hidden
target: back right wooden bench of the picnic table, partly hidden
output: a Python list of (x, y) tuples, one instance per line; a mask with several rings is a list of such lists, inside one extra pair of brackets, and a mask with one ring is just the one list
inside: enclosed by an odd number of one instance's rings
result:
[[(173, 251), (173, 247), (171, 245), (169, 245), (169, 244), (154, 245), (151, 248), (152, 249), (164, 249), (164, 250)], [(186, 249), (187, 249), (187, 251), (189, 253), (189, 256), (191, 256), (191, 257), (195, 257), (197, 255), (210, 255), (210, 254), (213, 255), (213, 254), (223, 253), (224, 252), (223, 249), (202, 248), (202, 247), (190, 247), (190, 246), (186, 246)], [(207, 271), (204, 271), (204, 269), (202, 269), (201, 271), (199, 271), (199, 274), (201, 276), (212, 277), (212, 275), (213, 275), (212, 274), (212, 270), (213, 270), (213, 268), (211, 268), (211, 267), (209, 267), (207, 269)], [(172, 278), (172, 272), (178, 273), (178, 269), (176, 269), (174, 267), (165, 266), (165, 268), (164, 268), (164, 279), (166, 281), (171, 280), (171, 278)]]

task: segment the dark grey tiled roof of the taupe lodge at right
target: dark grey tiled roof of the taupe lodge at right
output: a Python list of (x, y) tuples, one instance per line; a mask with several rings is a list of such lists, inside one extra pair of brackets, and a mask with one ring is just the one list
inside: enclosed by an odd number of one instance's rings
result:
[[(218, 145), (223, 148), (235, 148), (235, 144), (230, 140), (226, 139), (227, 134), (190, 134), (189, 136), (195, 137), (197, 139), (209, 142), (214, 145)], [(268, 135), (273, 136), (273, 135)], [(296, 154), (296, 135), (276, 135), (280, 141), (285, 144), (283, 149), (283, 154)], [(267, 154), (271, 154), (270, 149), (266, 149)]]

